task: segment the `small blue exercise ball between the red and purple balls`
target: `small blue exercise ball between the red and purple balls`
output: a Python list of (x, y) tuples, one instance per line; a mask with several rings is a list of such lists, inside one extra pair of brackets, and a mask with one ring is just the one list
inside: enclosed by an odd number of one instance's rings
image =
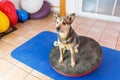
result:
[(29, 15), (25, 10), (17, 10), (17, 15), (20, 22), (25, 22), (29, 18)]

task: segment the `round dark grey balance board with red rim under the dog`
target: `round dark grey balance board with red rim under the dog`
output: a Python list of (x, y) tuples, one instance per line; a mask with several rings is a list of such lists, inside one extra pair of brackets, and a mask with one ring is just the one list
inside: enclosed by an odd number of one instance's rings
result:
[(75, 53), (76, 66), (71, 67), (71, 53), (69, 50), (63, 55), (64, 61), (59, 63), (59, 48), (53, 47), (50, 53), (52, 68), (64, 76), (84, 76), (98, 68), (102, 61), (100, 45), (93, 39), (79, 36), (79, 53)]

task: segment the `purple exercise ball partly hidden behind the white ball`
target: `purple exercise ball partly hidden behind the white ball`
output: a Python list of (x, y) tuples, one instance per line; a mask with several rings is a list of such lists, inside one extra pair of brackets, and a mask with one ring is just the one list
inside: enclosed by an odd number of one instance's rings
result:
[(51, 11), (51, 6), (47, 1), (44, 1), (42, 8), (33, 14), (30, 14), (31, 19), (39, 19), (47, 16)]

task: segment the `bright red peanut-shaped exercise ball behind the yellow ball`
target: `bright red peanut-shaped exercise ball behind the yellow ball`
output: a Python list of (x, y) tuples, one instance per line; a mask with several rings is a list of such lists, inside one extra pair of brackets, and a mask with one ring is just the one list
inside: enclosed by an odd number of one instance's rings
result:
[(7, 15), (12, 26), (17, 24), (18, 17), (15, 6), (12, 2), (10, 2), (9, 0), (2, 0), (0, 2), (0, 10)]

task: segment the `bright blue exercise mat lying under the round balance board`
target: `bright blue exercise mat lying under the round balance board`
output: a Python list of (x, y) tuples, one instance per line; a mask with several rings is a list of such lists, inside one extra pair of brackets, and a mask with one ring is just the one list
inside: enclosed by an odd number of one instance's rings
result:
[(12, 51), (11, 56), (54, 80), (120, 80), (120, 51), (102, 47), (103, 60), (92, 73), (82, 77), (66, 77), (52, 69), (49, 54), (57, 35), (42, 32)]

